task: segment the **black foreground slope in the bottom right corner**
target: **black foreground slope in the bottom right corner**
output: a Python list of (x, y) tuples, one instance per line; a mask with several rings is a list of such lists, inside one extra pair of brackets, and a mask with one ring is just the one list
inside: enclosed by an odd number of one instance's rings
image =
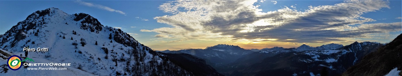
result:
[[(394, 68), (402, 70), (402, 34), (377, 51), (366, 55), (342, 76), (384, 76)], [(402, 72), (399, 75), (402, 75)]]

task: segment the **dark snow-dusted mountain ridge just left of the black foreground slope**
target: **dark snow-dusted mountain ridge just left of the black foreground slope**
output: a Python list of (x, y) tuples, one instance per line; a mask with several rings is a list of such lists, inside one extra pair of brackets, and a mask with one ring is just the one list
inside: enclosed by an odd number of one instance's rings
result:
[[(329, 76), (338, 76), (350, 66), (358, 63), (364, 55), (375, 51), (381, 46), (382, 44), (375, 42), (355, 42), (334, 50), (293, 50), (258, 60), (258, 62), (255, 61), (256, 63), (254, 64), (249, 63), (250, 66), (247, 67), (229, 66), (240, 68), (226, 67), (226, 69), (232, 69), (232, 71), (221, 73), (228, 76), (308, 76), (310, 74), (318, 75), (322, 69), (326, 69), (329, 70)], [(260, 59), (259, 57), (263, 56), (249, 59)], [(217, 68), (217, 70), (219, 71), (220, 68)]]

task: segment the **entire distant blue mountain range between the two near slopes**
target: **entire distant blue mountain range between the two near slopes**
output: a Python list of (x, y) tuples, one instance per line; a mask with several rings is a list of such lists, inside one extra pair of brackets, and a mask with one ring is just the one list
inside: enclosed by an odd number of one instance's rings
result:
[(331, 43), (310, 47), (303, 44), (297, 48), (246, 50), (236, 45), (219, 44), (206, 49), (159, 52), (195, 55), (210, 61), (211, 66), (227, 76), (318, 75), (322, 69), (330, 70), (330, 76), (337, 76), (382, 45), (375, 42), (355, 42), (347, 46)]

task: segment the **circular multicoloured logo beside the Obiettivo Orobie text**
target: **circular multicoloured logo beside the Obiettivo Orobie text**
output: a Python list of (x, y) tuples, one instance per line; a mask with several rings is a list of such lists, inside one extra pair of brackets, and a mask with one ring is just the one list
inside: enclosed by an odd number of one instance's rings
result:
[(21, 68), (21, 58), (18, 55), (12, 55), (7, 60), (8, 68), (18, 70)]

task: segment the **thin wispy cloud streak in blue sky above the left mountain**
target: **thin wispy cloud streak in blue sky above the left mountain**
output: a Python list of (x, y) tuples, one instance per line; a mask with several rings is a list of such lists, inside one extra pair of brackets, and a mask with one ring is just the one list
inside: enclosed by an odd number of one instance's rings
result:
[(103, 5), (100, 5), (100, 4), (94, 4), (94, 3), (84, 2), (84, 1), (81, 1), (81, 0), (76, 0), (76, 1), (74, 1), (74, 2), (77, 2), (77, 3), (81, 4), (81, 5), (85, 5), (85, 6), (89, 6), (89, 7), (96, 7), (96, 8), (103, 9), (103, 10), (107, 10), (107, 11), (110, 11), (110, 12), (117, 12), (117, 13), (126, 15), (126, 13), (123, 12), (123, 11), (115, 10), (115, 9), (113, 9), (113, 8), (110, 8), (110, 7), (107, 7), (107, 6), (103, 6)]

